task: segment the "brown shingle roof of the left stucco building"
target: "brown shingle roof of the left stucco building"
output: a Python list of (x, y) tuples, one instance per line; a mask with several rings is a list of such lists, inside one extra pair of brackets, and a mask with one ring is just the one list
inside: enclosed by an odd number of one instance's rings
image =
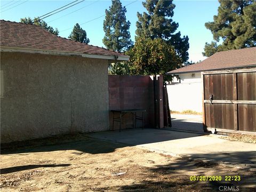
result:
[(119, 52), (58, 37), (36, 25), (4, 20), (0, 20), (0, 23), (1, 46), (24, 47), (35, 50), (39, 49), (52, 51), (66, 51), (84, 54), (124, 56), (124, 54)]

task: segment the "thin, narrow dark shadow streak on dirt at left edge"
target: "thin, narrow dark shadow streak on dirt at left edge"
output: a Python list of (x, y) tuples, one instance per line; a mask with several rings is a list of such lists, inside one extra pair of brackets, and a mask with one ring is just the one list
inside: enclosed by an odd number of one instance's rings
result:
[(22, 166), (14, 166), (8, 167), (4, 169), (0, 169), (1, 174), (13, 173), (18, 171), (30, 170), (30, 169), (37, 169), (39, 167), (65, 167), (70, 166), (71, 164), (42, 164), (42, 165), (22, 165)]

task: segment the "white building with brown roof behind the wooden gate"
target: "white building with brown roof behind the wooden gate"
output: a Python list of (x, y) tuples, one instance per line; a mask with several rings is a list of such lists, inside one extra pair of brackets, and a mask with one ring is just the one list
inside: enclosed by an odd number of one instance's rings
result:
[(167, 85), (170, 110), (202, 112), (202, 71), (252, 67), (256, 67), (256, 47), (217, 52), (202, 62), (169, 71), (178, 77)]

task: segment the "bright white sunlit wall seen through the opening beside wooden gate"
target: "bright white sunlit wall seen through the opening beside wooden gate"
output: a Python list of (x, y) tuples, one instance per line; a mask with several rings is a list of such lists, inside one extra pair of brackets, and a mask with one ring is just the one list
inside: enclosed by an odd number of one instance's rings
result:
[(179, 77), (181, 83), (167, 85), (170, 110), (202, 112), (201, 74), (195, 73), (195, 77), (191, 77), (191, 73), (180, 74)]

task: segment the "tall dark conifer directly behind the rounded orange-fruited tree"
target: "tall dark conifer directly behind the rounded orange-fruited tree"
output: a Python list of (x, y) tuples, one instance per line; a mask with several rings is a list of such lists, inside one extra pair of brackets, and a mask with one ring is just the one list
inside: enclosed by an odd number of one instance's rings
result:
[[(188, 60), (188, 36), (181, 37), (180, 31), (175, 33), (179, 24), (172, 20), (175, 5), (172, 1), (142, 2), (148, 13), (137, 13), (136, 34), (138, 37), (162, 38), (168, 44), (173, 45), (175, 51), (183, 62)], [(137, 38), (137, 37), (136, 37)]]

